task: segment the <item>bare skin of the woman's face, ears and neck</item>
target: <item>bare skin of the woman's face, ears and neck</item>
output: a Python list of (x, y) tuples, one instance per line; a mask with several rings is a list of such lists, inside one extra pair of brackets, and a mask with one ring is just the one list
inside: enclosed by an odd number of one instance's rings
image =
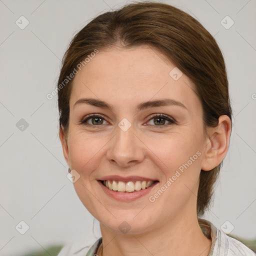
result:
[[(231, 123), (228, 116), (221, 115), (218, 126), (207, 127), (204, 133), (202, 106), (194, 85), (185, 74), (174, 80), (169, 75), (173, 67), (157, 49), (147, 45), (130, 49), (116, 46), (99, 50), (74, 77), (67, 139), (62, 129), (59, 137), (68, 166), (80, 175), (74, 182), (75, 191), (100, 222), (103, 256), (209, 253), (211, 240), (197, 222), (198, 178), (201, 169), (211, 170), (224, 158)], [(73, 107), (84, 97), (104, 100), (113, 109), (85, 103)], [(178, 100), (186, 108), (168, 105), (136, 110), (141, 102), (163, 98)], [(92, 119), (87, 120), (88, 125), (79, 124), (92, 113), (104, 116), (101, 124), (92, 123)], [(157, 125), (151, 117), (155, 113), (176, 122), (160, 120)], [(125, 132), (117, 125), (123, 118), (131, 124)], [(198, 150), (201, 155), (150, 202), (148, 197)], [(120, 202), (105, 194), (97, 182), (112, 174), (139, 175), (159, 183), (148, 195)], [(118, 228), (123, 221), (131, 227), (125, 234)]]

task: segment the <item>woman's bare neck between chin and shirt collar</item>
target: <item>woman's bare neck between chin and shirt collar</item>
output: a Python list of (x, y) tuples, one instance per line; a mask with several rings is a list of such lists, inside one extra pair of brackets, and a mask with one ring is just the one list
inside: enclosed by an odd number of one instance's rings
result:
[(138, 234), (115, 233), (101, 223), (100, 230), (103, 245), (100, 256), (207, 256), (211, 246), (211, 240), (201, 231), (196, 214), (170, 217), (163, 225)]

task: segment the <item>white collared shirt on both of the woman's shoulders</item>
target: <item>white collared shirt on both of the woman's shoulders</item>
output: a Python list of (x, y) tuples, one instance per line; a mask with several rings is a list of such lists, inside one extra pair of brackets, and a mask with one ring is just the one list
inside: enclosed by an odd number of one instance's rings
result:
[[(211, 239), (208, 256), (256, 256), (256, 254), (240, 241), (228, 236), (217, 229), (210, 221), (198, 218), (198, 223), (203, 234)], [(66, 244), (57, 256), (95, 256), (102, 242), (102, 237), (96, 241), (88, 242), (84, 239)]]

